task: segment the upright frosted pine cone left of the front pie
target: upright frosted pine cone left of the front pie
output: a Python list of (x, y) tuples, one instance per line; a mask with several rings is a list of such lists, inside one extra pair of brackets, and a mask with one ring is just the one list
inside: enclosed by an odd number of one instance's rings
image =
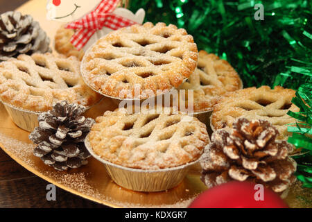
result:
[(37, 144), (33, 154), (59, 171), (87, 164), (90, 154), (84, 141), (94, 119), (85, 118), (85, 110), (83, 105), (62, 101), (53, 110), (40, 114), (39, 127), (29, 135)]

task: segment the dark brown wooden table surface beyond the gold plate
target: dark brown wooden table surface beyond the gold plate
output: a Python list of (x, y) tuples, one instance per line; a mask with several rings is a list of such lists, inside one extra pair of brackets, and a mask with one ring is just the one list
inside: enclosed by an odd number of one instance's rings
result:
[[(42, 0), (46, 1), (46, 0)], [(0, 0), (0, 13), (15, 10), (26, 0)], [(0, 208), (3, 207), (105, 207), (56, 187), (56, 200), (46, 200), (42, 180), (21, 167), (0, 148)]]

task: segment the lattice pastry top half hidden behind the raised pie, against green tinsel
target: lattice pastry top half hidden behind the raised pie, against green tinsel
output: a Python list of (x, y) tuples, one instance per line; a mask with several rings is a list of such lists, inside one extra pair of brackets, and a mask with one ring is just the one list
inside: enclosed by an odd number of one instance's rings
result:
[(211, 111), (221, 96), (242, 87), (241, 78), (229, 62), (201, 50), (196, 70), (179, 89), (193, 89), (193, 110), (202, 112)]

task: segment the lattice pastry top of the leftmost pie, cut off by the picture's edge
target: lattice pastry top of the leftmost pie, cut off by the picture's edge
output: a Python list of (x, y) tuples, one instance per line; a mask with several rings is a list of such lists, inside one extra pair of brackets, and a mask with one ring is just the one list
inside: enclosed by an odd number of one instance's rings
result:
[(80, 62), (51, 53), (20, 55), (0, 63), (1, 101), (22, 110), (51, 110), (58, 101), (94, 105), (101, 95), (87, 87), (80, 76)]

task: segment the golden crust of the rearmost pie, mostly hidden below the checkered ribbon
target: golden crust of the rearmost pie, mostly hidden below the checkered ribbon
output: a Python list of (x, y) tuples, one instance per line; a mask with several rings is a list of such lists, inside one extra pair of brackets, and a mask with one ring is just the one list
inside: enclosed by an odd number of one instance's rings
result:
[(70, 42), (73, 33), (75, 33), (73, 29), (64, 28), (64, 25), (60, 26), (54, 37), (55, 50), (66, 57), (75, 56), (78, 60), (83, 60), (85, 55), (83, 49), (78, 51)]

